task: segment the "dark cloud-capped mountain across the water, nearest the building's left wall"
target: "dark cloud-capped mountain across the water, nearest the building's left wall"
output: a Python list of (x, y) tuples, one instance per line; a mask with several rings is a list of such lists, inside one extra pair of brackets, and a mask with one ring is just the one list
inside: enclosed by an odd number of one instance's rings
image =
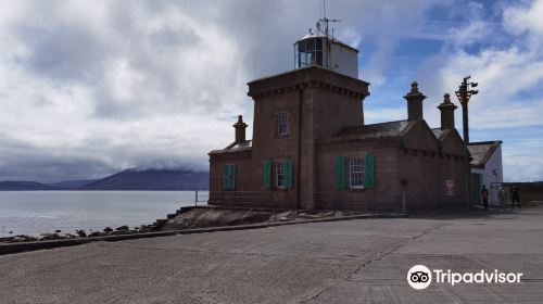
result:
[(126, 169), (80, 190), (206, 190), (210, 174), (176, 169)]

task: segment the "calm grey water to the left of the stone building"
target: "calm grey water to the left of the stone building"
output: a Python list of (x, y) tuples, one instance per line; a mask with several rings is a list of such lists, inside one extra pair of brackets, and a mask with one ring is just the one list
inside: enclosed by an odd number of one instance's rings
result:
[(193, 204), (193, 191), (0, 191), (0, 237), (134, 228)]

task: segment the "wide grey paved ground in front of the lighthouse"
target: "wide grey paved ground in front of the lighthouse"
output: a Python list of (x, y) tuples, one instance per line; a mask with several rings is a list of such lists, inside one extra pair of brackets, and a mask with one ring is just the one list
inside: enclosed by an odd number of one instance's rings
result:
[[(416, 264), (523, 273), (406, 281)], [(543, 208), (186, 235), (0, 256), (0, 303), (542, 303)]]

